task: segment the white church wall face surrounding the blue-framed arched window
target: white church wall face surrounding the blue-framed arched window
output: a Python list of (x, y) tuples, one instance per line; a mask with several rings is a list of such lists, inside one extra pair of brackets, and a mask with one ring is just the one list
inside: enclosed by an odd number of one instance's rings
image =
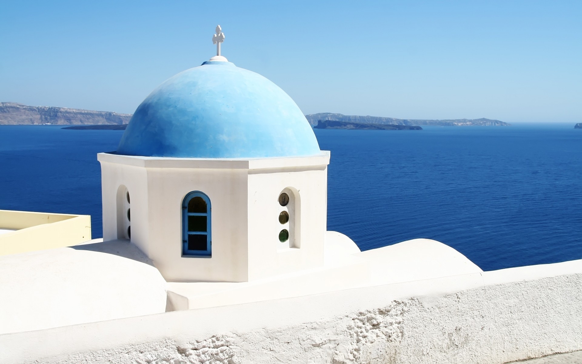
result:
[[(248, 279), (245, 169), (147, 168), (149, 256), (168, 281)], [(182, 202), (192, 191), (210, 199), (212, 255), (182, 256)]]

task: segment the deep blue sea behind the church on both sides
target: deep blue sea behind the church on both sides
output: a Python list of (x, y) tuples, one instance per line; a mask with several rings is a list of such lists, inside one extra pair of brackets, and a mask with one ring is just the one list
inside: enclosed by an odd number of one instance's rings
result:
[[(95, 154), (122, 133), (0, 126), (0, 208), (89, 214), (100, 237)], [(582, 258), (573, 125), (315, 133), (332, 156), (328, 229), (363, 250), (431, 238), (484, 270)]]

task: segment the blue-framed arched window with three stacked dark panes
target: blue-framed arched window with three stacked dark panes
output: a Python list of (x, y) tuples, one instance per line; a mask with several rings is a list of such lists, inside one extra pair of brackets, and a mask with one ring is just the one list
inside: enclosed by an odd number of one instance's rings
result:
[(210, 199), (190, 192), (182, 203), (182, 255), (212, 255)]

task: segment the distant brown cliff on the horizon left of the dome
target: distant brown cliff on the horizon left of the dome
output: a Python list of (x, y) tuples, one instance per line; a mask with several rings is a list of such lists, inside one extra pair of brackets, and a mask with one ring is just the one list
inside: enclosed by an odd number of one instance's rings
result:
[(27, 106), (17, 103), (0, 103), (0, 125), (19, 124), (126, 124), (130, 114), (116, 112), (69, 109), (64, 107)]

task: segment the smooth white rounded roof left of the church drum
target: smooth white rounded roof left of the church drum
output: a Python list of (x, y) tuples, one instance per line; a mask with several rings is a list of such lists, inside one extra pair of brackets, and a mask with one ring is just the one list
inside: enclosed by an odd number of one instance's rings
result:
[(0, 334), (165, 312), (165, 284), (127, 241), (2, 256)]

